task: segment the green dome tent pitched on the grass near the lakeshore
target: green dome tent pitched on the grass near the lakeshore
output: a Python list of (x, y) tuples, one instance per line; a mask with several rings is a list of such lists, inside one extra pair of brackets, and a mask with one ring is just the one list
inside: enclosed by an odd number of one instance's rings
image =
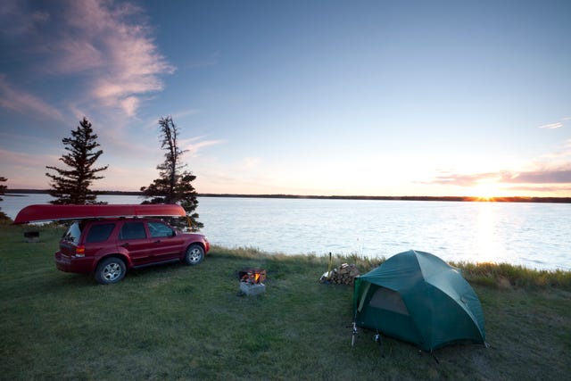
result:
[(431, 253), (398, 253), (355, 278), (353, 312), (367, 327), (432, 351), (468, 340), (484, 344), (484, 313), (459, 272)]

